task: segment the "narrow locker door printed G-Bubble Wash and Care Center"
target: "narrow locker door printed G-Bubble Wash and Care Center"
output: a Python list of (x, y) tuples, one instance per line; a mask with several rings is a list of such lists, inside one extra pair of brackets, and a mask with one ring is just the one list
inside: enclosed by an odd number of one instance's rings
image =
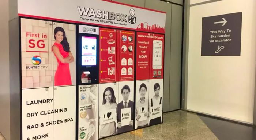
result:
[(79, 85), (78, 90), (78, 139), (98, 140), (99, 85)]

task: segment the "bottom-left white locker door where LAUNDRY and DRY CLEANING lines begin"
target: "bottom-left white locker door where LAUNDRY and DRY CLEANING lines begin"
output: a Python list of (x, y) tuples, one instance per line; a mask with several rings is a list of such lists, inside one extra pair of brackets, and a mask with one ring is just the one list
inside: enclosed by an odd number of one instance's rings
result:
[[(22, 90), (22, 139), (32, 140), (33, 137), (45, 137), (49, 140), (49, 88)], [(18, 118), (17, 118), (18, 119)]]

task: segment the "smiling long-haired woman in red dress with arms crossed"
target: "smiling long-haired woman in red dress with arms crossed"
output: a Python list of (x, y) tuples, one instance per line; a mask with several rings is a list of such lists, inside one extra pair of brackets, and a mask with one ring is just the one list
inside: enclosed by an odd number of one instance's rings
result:
[(61, 27), (54, 29), (53, 53), (57, 59), (58, 67), (54, 75), (54, 86), (72, 85), (69, 63), (74, 61), (70, 52), (69, 43), (65, 31)]

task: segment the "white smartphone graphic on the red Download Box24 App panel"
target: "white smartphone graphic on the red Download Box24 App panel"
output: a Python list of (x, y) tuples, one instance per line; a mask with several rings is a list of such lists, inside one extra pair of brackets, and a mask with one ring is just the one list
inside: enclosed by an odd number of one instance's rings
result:
[(153, 40), (153, 69), (162, 69), (162, 48), (161, 40)]

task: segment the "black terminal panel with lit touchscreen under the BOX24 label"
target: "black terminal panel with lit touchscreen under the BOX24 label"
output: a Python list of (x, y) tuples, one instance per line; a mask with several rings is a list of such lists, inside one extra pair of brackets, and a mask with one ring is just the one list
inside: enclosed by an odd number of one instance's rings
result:
[(78, 25), (78, 83), (98, 84), (99, 28)]

